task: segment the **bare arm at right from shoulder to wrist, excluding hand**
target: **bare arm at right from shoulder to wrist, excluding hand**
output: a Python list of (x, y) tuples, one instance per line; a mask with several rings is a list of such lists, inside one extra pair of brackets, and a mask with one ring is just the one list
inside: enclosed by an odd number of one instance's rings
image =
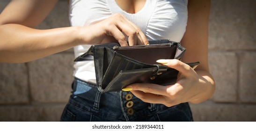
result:
[(196, 68), (199, 80), (204, 83), (198, 90), (198, 93), (192, 103), (199, 103), (207, 100), (215, 91), (215, 83), (212, 75), (209, 73), (208, 66), (208, 22), (210, 12), (210, 0), (189, 0), (188, 6), (188, 24), (186, 32), (182, 39), (182, 44), (188, 50), (183, 61), (185, 63), (199, 61), (200, 65)]

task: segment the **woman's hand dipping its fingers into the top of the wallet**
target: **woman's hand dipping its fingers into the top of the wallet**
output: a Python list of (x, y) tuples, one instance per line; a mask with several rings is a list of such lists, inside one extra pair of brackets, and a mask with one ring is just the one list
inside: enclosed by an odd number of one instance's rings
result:
[[(128, 37), (128, 42), (126, 41)], [(146, 36), (123, 15), (115, 14), (96, 24), (82, 27), (80, 44), (102, 44), (117, 41), (121, 46), (148, 44)]]

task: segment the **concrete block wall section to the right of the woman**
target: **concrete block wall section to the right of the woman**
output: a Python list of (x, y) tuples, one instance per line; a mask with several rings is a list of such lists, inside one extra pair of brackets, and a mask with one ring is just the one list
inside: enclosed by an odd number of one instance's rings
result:
[(211, 0), (209, 65), (213, 97), (191, 104), (195, 121), (256, 121), (255, 0)]

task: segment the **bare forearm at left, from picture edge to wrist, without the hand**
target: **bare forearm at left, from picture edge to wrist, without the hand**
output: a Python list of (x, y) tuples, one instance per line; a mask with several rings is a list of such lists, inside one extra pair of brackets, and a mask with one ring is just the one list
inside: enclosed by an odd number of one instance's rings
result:
[(77, 27), (32, 29), (0, 25), (0, 62), (22, 63), (67, 50), (78, 44)]

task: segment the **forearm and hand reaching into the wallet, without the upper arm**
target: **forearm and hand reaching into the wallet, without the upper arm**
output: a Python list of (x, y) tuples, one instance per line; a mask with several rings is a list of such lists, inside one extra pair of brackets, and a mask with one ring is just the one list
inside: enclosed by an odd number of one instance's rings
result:
[(28, 62), (78, 44), (102, 44), (113, 39), (127, 46), (125, 36), (130, 45), (148, 44), (142, 31), (119, 14), (86, 27), (40, 30), (21, 24), (0, 24), (0, 62)]

